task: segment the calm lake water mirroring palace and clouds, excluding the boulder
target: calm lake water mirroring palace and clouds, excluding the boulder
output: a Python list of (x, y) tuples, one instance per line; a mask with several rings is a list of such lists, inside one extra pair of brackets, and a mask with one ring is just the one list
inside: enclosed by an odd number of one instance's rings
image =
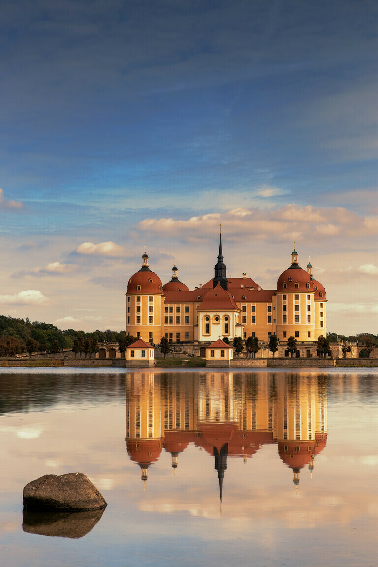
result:
[[(376, 565), (377, 410), (370, 369), (2, 369), (2, 565)], [(102, 517), (23, 522), (74, 471)]]

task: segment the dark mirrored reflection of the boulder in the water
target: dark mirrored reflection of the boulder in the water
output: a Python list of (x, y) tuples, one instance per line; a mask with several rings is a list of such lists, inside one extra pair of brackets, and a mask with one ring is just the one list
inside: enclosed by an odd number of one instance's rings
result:
[(100, 521), (103, 513), (104, 508), (74, 512), (23, 510), (22, 529), (29, 534), (79, 539), (92, 530), (92, 527)]

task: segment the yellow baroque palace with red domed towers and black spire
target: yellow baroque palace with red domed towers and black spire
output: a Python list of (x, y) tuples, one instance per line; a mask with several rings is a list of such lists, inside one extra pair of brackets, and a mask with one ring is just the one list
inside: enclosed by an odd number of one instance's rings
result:
[(211, 342), (218, 337), (232, 340), (249, 336), (279, 341), (294, 336), (313, 342), (326, 336), (325, 289), (312, 275), (308, 261), (304, 270), (298, 252), (291, 254), (291, 265), (278, 277), (275, 290), (263, 290), (244, 272), (227, 278), (219, 235), (218, 261), (214, 277), (190, 291), (172, 268), (172, 279), (162, 280), (148, 266), (146, 252), (142, 267), (130, 277), (127, 297), (127, 331), (144, 341)]

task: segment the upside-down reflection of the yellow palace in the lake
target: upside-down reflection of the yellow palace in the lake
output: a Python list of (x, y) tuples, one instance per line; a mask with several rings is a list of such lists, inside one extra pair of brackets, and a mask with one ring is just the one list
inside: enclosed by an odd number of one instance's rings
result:
[(189, 443), (214, 457), (222, 500), (227, 458), (251, 458), (277, 445), (294, 484), (325, 447), (326, 376), (274, 373), (156, 373), (126, 375), (126, 443), (148, 478), (163, 450), (172, 467)]

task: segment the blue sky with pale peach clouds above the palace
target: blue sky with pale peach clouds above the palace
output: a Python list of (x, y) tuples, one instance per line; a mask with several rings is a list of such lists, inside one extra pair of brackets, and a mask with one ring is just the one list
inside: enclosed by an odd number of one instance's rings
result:
[(5, 0), (0, 314), (126, 327), (146, 246), (189, 289), (311, 258), (327, 330), (376, 334), (378, 4)]

